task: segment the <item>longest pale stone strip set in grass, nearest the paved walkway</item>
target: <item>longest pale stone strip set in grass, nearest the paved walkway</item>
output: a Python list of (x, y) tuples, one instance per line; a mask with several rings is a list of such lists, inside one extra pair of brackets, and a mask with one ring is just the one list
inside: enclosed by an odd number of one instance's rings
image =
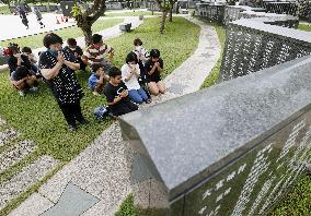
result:
[(58, 161), (44, 155), (24, 167), (10, 180), (0, 183), (0, 211), (13, 199), (25, 192), (30, 187), (50, 172)]

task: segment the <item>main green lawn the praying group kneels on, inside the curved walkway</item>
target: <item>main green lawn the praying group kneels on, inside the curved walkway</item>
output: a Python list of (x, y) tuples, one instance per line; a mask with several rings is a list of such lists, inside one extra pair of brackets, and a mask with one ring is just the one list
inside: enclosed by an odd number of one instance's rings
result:
[[(158, 17), (146, 19), (137, 29), (107, 40), (106, 43), (116, 50), (114, 64), (120, 67), (125, 62), (127, 52), (134, 48), (133, 40), (136, 37), (140, 37), (149, 50), (158, 48), (161, 51), (165, 69), (163, 76), (185, 61), (197, 47), (199, 27), (183, 17), (175, 17), (173, 23), (166, 24), (165, 34), (160, 35), (159, 23), (160, 19)], [(71, 32), (71, 36), (72, 34), (74, 33)], [(25, 98), (21, 98), (16, 89), (11, 86), (8, 73), (8, 71), (0, 73), (0, 116), (8, 121), (9, 127), (21, 133), (19, 139), (34, 140), (38, 149), (30, 158), (1, 173), (0, 183), (39, 155), (51, 155), (59, 159), (61, 165), (70, 161), (111, 124), (111, 120), (97, 123), (93, 119), (93, 109), (106, 101), (103, 97), (93, 96), (87, 89), (90, 73), (77, 72), (78, 80), (85, 93), (82, 99), (82, 112), (90, 120), (90, 124), (79, 127), (78, 131), (73, 133), (69, 132), (57, 103), (44, 83), (39, 84), (38, 93), (27, 94)], [(4, 148), (0, 148), (0, 153), (3, 151)], [(5, 215), (13, 209), (41, 184), (36, 184), (28, 192), (11, 202), (3, 212), (0, 212), (0, 215)]]

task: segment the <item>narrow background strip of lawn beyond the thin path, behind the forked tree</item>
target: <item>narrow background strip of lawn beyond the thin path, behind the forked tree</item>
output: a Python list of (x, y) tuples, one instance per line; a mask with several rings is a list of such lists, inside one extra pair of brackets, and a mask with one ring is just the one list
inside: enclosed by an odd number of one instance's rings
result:
[[(112, 27), (114, 25), (117, 25), (118, 23), (122, 23), (123, 21), (124, 21), (123, 19), (99, 20), (93, 24), (92, 31), (93, 33), (95, 33), (95, 32)], [(54, 33), (58, 34), (60, 37), (62, 37), (62, 39), (66, 39), (69, 37), (77, 38), (77, 37), (83, 36), (82, 31), (77, 26), (65, 28), (65, 29), (59, 29), (59, 31), (54, 31)], [(45, 34), (41, 34), (41, 35), (34, 35), (34, 36), (28, 36), (24, 38), (10, 39), (5, 41), (1, 41), (0, 46), (5, 47), (8, 46), (9, 43), (14, 41), (14, 43), (18, 43), (20, 47), (28, 46), (35, 49), (35, 48), (43, 47), (44, 36)]]

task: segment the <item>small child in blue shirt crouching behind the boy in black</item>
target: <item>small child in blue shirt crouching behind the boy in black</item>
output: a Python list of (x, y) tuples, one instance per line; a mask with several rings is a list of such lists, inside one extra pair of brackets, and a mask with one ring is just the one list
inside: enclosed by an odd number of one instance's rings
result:
[(93, 95), (100, 96), (102, 93), (105, 83), (110, 82), (110, 76), (107, 76), (101, 64), (94, 63), (91, 65), (93, 71), (92, 75), (89, 77), (89, 88), (93, 92)]

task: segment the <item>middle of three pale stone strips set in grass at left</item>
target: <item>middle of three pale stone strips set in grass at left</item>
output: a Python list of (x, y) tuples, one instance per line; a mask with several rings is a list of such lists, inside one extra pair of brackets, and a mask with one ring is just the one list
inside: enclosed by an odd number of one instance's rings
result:
[(20, 141), (16, 145), (10, 146), (3, 153), (0, 153), (0, 173), (9, 167), (21, 161), (35, 149), (33, 141)]

